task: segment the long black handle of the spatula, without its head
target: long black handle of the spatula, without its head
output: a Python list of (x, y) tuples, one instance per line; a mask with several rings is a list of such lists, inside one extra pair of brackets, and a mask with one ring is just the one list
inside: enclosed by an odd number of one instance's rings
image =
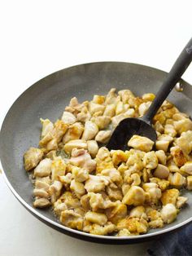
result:
[(187, 43), (183, 51), (181, 51), (181, 54), (177, 58), (175, 64), (173, 64), (171, 71), (168, 73), (168, 77), (164, 81), (163, 85), (160, 87), (146, 115), (142, 117), (143, 120), (145, 120), (148, 123), (151, 123), (151, 120), (155, 116), (155, 113), (163, 104), (164, 99), (168, 97), (169, 93), (180, 80), (182, 74), (185, 72), (186, 68), (188, 68), (191, 61), (192, 38), (190, 38), (190, 41)]

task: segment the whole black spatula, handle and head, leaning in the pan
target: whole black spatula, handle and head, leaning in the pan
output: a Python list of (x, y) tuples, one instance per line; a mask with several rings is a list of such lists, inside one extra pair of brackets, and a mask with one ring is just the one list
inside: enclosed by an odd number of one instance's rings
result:
[(156, 140), (156, 132), (151, 126), (152, 118), (155, 116), (161, 104), (163, 104), (164, 99), (168, 97), (173, 87), (180, 80), (191, 61), (192, 38), (190, 38), (190, 42), (187, 43), (181, 55), (179, 55), (175, 64), (172, 66), (167, 79), (160, 87), (147, 113), (140, 118), (125, 118), (120, 121), (120, 124), (116, 126), (116, 130), (113, 131), (111, 139), (107, 143), (108, 149), (127, 149), (127, 143), (133, 135), (141, 135), (153, 141)]

